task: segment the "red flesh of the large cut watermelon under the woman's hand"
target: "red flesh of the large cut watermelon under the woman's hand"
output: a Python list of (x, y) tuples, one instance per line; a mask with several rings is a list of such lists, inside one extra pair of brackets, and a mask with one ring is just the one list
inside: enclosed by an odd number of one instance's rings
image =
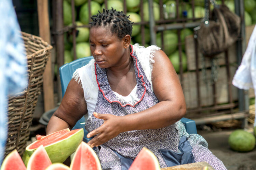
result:
[(52, 134), (49, 134), (49, 135), (43, 137), (42, 139), (40, 139), (36, 142), (34, 142), (33, 145), (30, 145), (28, 149), (35, 149), (35, 148), (38, 148), (40, 145), (43, 145), (44, 147), (51, 145), (52, 143), (55, 143), (59, 140), (69, 137), (70, 135), (76, 133), (77, 131), (79, 131), (79, 129), (70, 131), (67, 128), (67, 129), (64, 129), (64, 130), (61, 130), (58, 132), (54, 132)]

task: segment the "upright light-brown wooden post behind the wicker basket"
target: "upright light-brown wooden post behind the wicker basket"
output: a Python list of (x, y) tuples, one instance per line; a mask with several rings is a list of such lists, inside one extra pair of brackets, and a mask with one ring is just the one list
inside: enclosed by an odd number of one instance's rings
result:
[[(39, 35), (48, 44), (51, 44), (50, 23), (48, 14), (48, 0), (37, 0)], [(52, 78), (52, 57), (45, 66), (43, 73), (43, 101), (44, 112), (54, 108), (53, 78)]]

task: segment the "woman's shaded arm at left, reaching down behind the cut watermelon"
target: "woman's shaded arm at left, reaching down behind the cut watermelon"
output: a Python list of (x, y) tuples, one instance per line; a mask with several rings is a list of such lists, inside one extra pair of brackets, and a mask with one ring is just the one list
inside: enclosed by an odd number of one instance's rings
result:
[(85, 113), (87, 113), (87, 106), (83, 88), (74, 79), (71, 79), (60, 106), (47, 125), (46, 135), (66, 128), (71, 130)]

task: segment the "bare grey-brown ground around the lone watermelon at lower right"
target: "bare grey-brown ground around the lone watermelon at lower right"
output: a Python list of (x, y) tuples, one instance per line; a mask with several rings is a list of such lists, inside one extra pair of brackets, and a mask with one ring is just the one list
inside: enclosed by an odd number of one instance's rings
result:
[[(208, 142), (208, 148), (228, 170), (256, 170), (256, 147), (250, 152), (235, 152), (229, 148), (228, 137), (234, 130), (207, 132), (198, 130)], [(248, 131), (252, 131), (249, 127)]]

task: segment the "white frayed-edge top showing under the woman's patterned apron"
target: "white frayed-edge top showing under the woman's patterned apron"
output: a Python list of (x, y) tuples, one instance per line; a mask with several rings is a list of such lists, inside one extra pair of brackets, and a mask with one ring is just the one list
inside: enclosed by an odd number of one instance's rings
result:
[[(160, 50), (160, 48), (154, 45), (145, 48), (139, 46), (139, 44), (135, 44), (132, 47), (139, 59), (139, 62), (142, 65), (147, 79), (151, 83), (151, 89), (153, 89), (151, 81), (153, 68), (152, 64), (154, 63), (153, 57), (154, 53)], [(94, 59), (92, 59), (89, 64), (77, 69), (73, 73), (73, 79), (80, 83), (83, 88), (84, 99), (86, 101), (88, 111), (88, 114), (85, 115), (85, 120), (87, 120), (87, 118), (89, 118), (93, 114), (98, 97), (98, 84), (95, 76)], [(122, 96), (117, 92), (114, 92), (114, 94), (116, 95), (118, 100), (123, 100), (131, 105), (134, 105), (134, 103), (139, 101), (138, 97), (136, 96), (136, 89), (137, 85), (128, 96)]]

